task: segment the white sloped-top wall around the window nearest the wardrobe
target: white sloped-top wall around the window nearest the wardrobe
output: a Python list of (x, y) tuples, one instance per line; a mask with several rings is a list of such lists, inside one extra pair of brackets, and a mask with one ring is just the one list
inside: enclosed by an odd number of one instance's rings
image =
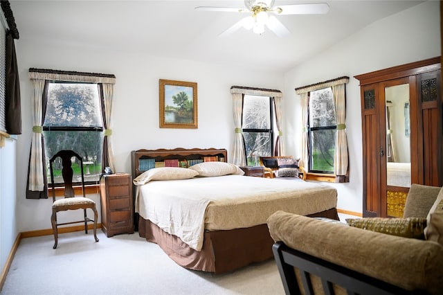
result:
[(296, 66), (284, 76), (287, 150), (299, 154), (300, 96), (294, 89), (347, 75), (346, 131), (350, 155), (350, 182), (333, 184), (338, 208), (362, 212), (363, 162), (359, 81), (354, 75), (440, 56), (439, 1), (426, 1), (363, 28), (342, 42)]

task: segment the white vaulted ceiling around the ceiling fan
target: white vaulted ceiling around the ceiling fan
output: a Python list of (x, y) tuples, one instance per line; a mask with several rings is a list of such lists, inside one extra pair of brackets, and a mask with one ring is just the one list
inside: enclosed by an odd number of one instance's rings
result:
[[(197, 6), (244, 7), (244, 1), (10, 1), (20, 38), (81, 44), (219, 64), (284, 72), (368, 26), (423, 1), (275, 1), (329, 4), (326, 15), (279, 15), (291, 35), (256, 35), (240, 28), (219, 34), (242, 19), (237, 12)], [(20, 39), (17, 41), (20, 42)]]

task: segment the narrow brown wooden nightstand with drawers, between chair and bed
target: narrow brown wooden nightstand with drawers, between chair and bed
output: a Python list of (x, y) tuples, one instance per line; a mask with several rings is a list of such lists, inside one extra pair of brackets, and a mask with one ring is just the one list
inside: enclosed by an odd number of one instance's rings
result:
[(134, 233), (132, 179), (127, 173), (103, 175), (100, 180), (102, 231), (107, 237)]

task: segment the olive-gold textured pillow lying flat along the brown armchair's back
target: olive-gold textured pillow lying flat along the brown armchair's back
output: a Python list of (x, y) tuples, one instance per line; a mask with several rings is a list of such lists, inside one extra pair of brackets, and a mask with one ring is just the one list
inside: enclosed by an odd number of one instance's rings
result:
[(368, 231), (377, 231), (379, 233), (387, 233), (388, 235), (398, 235), (404, 238), (415, 238), (424, 240), (424, 228), (426, 227), (426, 218), (409, 217), (409, 218), (383, 218), (383, 217), (366, 217), (366, 218), (347, 218), (347, 224), (367, 229)]

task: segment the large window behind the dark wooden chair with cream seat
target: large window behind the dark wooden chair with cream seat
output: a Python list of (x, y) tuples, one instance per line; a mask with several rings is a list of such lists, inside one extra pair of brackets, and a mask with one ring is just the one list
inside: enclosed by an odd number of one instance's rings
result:
[[(96, 183), (102, 171), (104, 129), (100, 84), (48, 82), (47, 100), (43, 136), (48, 183), (51, 183), (49, 159), (60, 150), (73, 150), (80, 154), (85, 182)], [(78, 164), (73, 159), (74, 176), (80, 176)], [(61, 163), (55, 163), (54, 182), (63, 182)]]

